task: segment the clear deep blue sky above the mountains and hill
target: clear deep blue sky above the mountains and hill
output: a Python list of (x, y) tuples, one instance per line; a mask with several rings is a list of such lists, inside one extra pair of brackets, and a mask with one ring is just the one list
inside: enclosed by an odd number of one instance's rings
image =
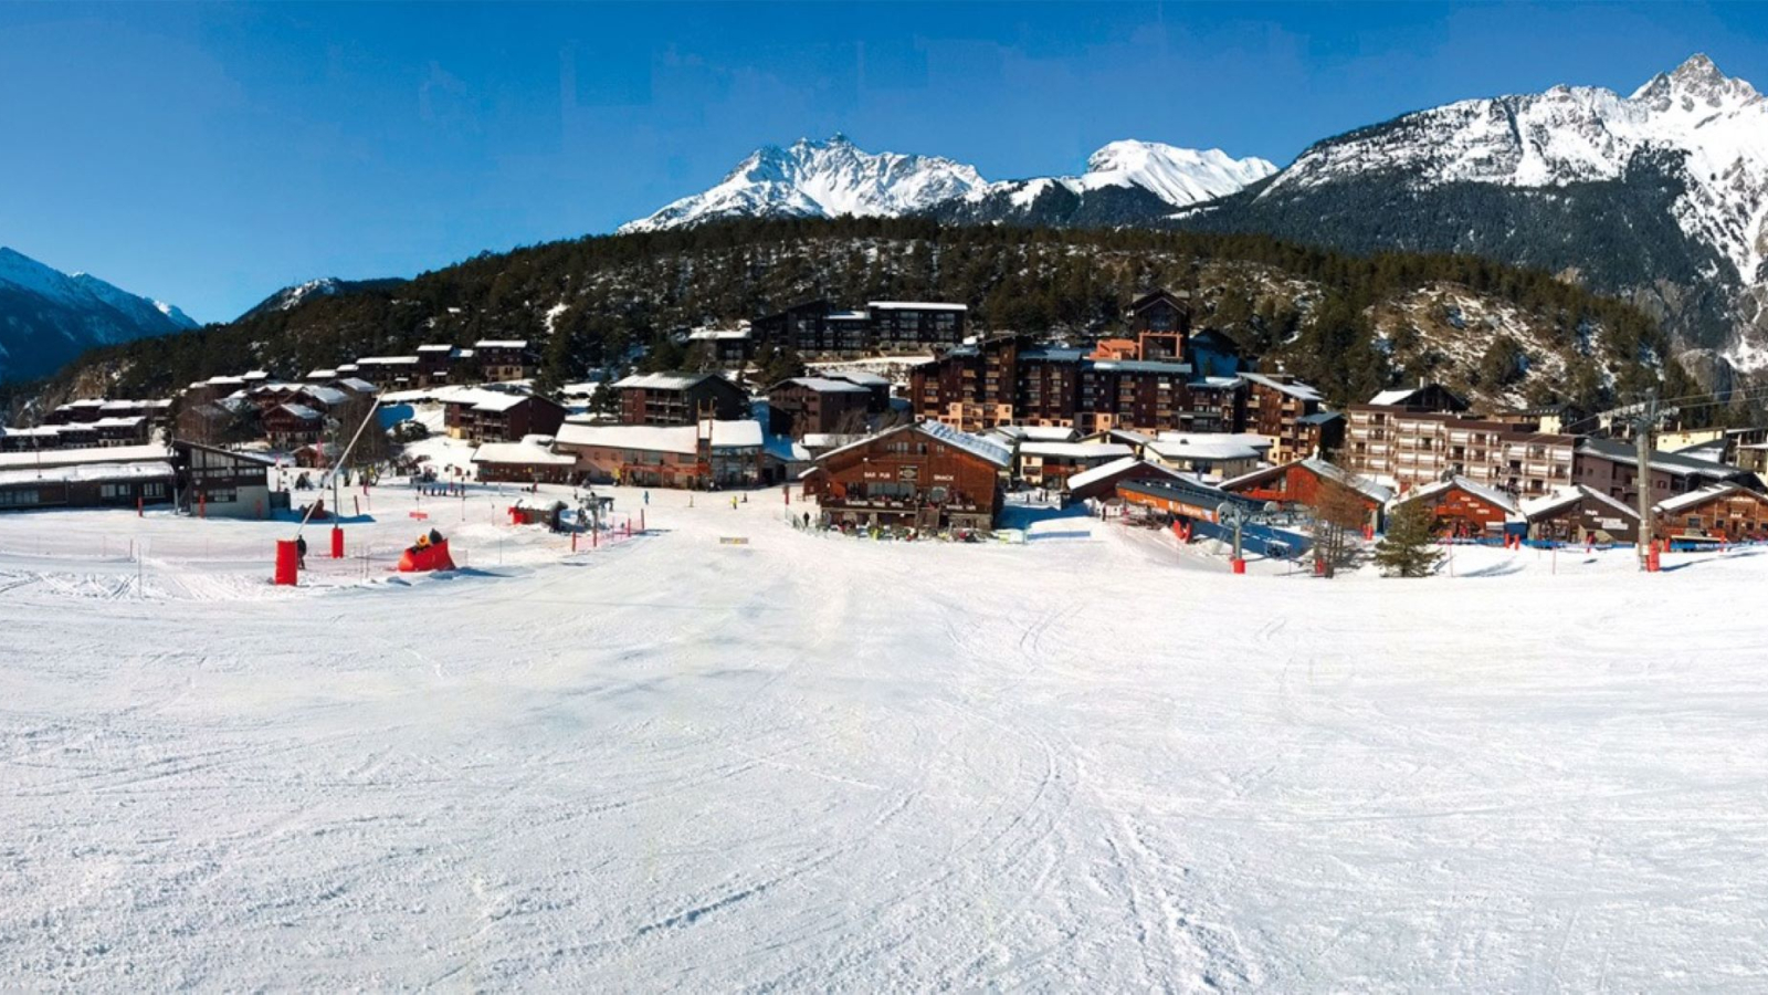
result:
[(1116, 138), (1317, 138), (1694, 51), (1768, 89), (1768, 7), (0, 4), (0, 244), (226, 320), (608, 232), (845, 131), (988, 179)]

